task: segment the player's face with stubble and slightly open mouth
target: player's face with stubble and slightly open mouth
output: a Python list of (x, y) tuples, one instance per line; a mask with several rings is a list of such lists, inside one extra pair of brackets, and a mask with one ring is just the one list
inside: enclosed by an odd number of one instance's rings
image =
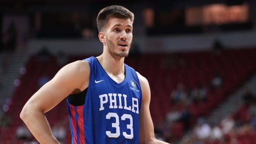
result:
[(109, 18), (105, 38), (107, 51), (112, 56), (128, 56), (133, 37), (132, 30), (130, 18)]

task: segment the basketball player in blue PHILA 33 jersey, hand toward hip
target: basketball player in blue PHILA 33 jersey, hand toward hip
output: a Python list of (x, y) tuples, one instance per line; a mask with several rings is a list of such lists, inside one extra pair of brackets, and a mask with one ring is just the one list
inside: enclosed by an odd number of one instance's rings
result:
[(149, 112), (150, 87), (124, 64), (134, 14), (108, 6), (97, 16), (103, 53), (65, 65), (25, 104), (20, 117), (41, 144), (58, 144), (44, 113), (67, 97), (72, 144), (165, 143), (156, 140)]

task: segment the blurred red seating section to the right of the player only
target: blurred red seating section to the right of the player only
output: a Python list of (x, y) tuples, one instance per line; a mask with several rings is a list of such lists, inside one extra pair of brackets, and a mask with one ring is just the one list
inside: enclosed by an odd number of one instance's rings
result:
[[(208, 116), (213, 108), (222, 103), (229, 94), (255, 73), (255, 54), (254, 48), (224, 50), (221, 54), (211, 51), (148, 54), (138, 59), (128, 57), (127, 63), (133, 65), (149, 81), (150, 111), (155, 126), (164, 120), (165, 115), (174, 106), (180, 110), (184, 108), (184, 103), (174, 103), (170, 100), (170, 94), (176, 89), (177, 84), (182, 83), (187, 90), (191, 90), (198, 85), (210, 85), (214, 74), (220, 73), (223, 78), (223, 87), (218, 90), (208, 89), (205, 102), (189, 105), (192, 129), (199, 116)], [(184, 133), (184, 129), (176, 128), (174, 133)]]

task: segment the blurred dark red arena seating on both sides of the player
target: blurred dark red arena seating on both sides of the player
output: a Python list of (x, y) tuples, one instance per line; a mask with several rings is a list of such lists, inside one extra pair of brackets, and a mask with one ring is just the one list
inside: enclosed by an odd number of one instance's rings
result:
[[(215, 54), (212, 51), (142, 54), (139, 57), (127, 57), (125, 63), (132, 66), (149, 81), (151, 88), (150, 111), (155, 126), (164, 120), (166, 114), (174, 106), (178, 110), (184, 108), (184, 103), (175, 103), (170, 98), (170, 94), (176, 89), (177, 84), (182, 83), (186, 90), (190, 90), (197, 85), (210, 84), (214, 74), (219, 72), (224, 80), (223, 87), (218, 90), (209, 89), (206, 101), (192, 102), (189, 105), (192, 114), (190, 127), (192, 128), (199, 116), (208, 116), (213, 108), (220, 105), (229, 94), (255, 73), (255, 55), (255, 48), (226, 49), (221, 54)], [(86, 57), (88, 56), (71, 55), (69, 62)], [(41, 75), (53, 78), (61, 66), (55, 63), (55, 57), (42, 62), (32, 56), (26, 68), (27, 73), (21, 76), (21, 85), (14, 91), (13, 103), (8, 111), (13, 118), (13, 123), (5, 133), (1, 133), (0, 143), (3, 144), (23, 143), (14, 138), (16, 128), (22, 124), (19, 113), (25, 102), (39, 89), (38, 78)], [(66, 99), (47, 112), (46, 116), (50, 126), (66, 119), (68, 116)], [(65, 127), (67, 130), (66, 144), (69, 144), (71, 135), (68, 122)], [(181, 138), (184, 134), (183, 123), (175, 123), (172, 130), (175, 131), (174, 137)]]

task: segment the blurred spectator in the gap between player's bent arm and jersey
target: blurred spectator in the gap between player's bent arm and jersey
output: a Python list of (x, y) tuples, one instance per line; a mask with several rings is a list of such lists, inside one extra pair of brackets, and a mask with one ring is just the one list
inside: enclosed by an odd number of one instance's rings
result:
[(66, 129), (61, 125), (61, 123), (55, 123), (52, 128), (52, 133), (60, 143), (64, 143), (66, 137)]

